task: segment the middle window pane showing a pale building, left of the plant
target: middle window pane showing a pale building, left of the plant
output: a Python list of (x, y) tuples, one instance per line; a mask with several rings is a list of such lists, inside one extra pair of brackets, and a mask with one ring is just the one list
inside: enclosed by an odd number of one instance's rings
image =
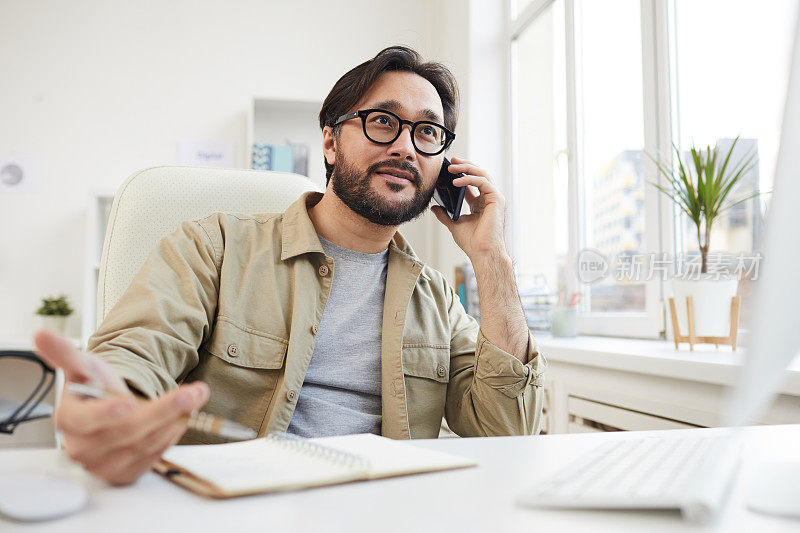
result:
[(588, 310), (644, 311), (642, 38), (639, 0), (576, 2), (584, 249), (608, 262)]

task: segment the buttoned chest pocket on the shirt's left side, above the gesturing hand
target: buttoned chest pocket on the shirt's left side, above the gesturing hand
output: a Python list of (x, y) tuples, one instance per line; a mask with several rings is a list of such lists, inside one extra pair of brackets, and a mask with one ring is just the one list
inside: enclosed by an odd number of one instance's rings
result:
[[(200, 363), (186, 382), (205, 381), (211, 397), (203, 411), (259, 431), (284, 369), (288, 341), (217, 317), (201, 347)], [(224, 439), (189, 430), (182, 443), (217, 443)]]

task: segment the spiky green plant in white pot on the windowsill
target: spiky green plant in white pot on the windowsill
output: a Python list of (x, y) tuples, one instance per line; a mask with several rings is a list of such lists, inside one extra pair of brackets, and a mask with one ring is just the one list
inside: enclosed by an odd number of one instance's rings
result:
[(755, 191), (745, 197), (734, 198), (742, 177), (753, 169), (756, 154), (731, 162), (739, 137), (734, 139), (730, 150), (720, 155), (718, 148), (707, 146), (705, 150), (691, 146), (690, 164), (684, 165), (680, 151), (673, 145), (677, 168), (665, 165), (652, 156), (659, 173), (668, 185), (651, 182), (686, 213), (697, 230), (697, 246), (700, 250), (700, 272), (692, 278), (673, 277), (672, 292), (678, 316), (678, 327), (683, 336), (688, 335), (686, 297), (692, 297), (693, 325), (696, 337), (727, 337), (731, 331), (731, 300), (736, 296), (739, 279), (736, 276), (708, 274), (708, 252), (711, 228), (719, 216), (742, 202), (762, 192)]

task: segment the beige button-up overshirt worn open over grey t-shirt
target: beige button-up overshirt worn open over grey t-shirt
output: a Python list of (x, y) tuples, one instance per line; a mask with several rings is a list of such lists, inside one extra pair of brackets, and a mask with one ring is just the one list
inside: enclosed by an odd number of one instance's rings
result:
[[(308, 216), (321, 194), (284, 213), (215, 213), (164, 237), (89, 339), (135, 389), (211, 388), (204, 408), (256, 430), (285, 431), (314, 351), (333, 259)], [(490, 305), (484, 303), (483, 305)], [(435, 438), (539, 431), (546, 361), (487, 341), (444, 276), (403, 237), (389, 244), (381, 329), (382, 434)], [(187, 432), (182, 442), (217, 442)]]

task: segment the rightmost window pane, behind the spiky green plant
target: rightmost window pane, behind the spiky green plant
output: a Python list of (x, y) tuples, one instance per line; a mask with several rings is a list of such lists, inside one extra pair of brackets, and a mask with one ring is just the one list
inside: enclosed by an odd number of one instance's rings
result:
[[(795, 0), (755, 7), (748, 0), (675, 1), (676, 144), (686, 160), (692, 144), (717, 146), (725, 154), (740, 136), (731, 162), (752, 153), (757, 165), (732, 198), (772, 187), (795, 16)], [(768, 198), (740, 204), (714, 222), (709, 241), (717, 260), (760, 248)], [(688, 217), (682, 219), (676, 249), (696, 254), (697, 229)]]

